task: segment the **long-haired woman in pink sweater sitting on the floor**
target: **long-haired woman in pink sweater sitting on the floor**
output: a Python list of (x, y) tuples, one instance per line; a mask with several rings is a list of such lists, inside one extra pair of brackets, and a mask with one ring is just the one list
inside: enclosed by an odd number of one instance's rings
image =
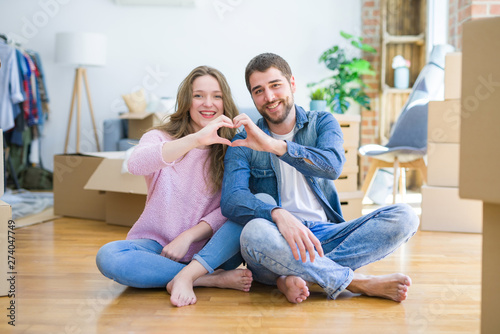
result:
[(126, 240), (97, 253), (104, 276), (136, 288), (168, 283), (176, 306), (196, 302), (193, 286), (250, 289), (251, 272), (235, 269), (242, 259), (233, 236), (242, 226), (226, 222), (220, 210), (224, 154), (237, 115), (222, 73), (200, 66), (184, 79), (176, 112), (145, 133), (129, 158), (129, 171), (146, 178), (146, 206)]

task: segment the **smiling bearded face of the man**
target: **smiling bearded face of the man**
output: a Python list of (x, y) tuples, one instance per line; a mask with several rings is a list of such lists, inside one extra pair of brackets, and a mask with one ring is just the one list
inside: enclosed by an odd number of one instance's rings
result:
[(250, 75), (250, 93), (259, 113), (268, 122), (280, 124), (287, 119), (294, 107), (295, 79), (290, 82), (275, 67)]

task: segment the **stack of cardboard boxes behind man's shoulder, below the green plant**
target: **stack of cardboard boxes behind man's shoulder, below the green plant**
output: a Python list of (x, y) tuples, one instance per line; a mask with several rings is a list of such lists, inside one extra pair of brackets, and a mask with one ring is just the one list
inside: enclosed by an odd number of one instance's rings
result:
[(360, 115), (335, 115), (344, 136), (346, 162), (342, 174), (334, 181), (339, 192), (342, 214), (346, 221), (361, 217), (363, 192), (358, 191), (358, 148)]

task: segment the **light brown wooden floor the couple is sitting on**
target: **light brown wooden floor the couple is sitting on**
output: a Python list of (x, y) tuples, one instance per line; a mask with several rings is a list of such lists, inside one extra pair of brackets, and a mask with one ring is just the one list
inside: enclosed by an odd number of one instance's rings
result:
[(403, 303), (315, 292), (288, 303), (274, 287), (249, 293), (197, 288), (175, 308), (163, 289), (133, 289), (102, 276), (99, 247), (127, 228), (61, 218), (16, 230), (16, 326), (0, 298), (0, 333), (477, 333), (481, 235), (419, 231), (386, 259), (359, 270), (413, 279)]

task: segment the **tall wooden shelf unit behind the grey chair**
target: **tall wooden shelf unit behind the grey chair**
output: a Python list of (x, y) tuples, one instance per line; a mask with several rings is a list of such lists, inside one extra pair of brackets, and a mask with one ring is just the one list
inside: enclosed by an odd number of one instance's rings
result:
[(411, 88), (394, 88), (392, 59), (410, 60), (410, 85), (426, 63), (427, 1), (381, 0), (380, 138), (385, 144), (391, 127), (411, 93)]

